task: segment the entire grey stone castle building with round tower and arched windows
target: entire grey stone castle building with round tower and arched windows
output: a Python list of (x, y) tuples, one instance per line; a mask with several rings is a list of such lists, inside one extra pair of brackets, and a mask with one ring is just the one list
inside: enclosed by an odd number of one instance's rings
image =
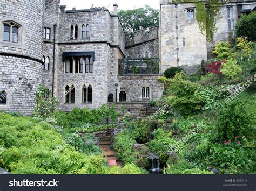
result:
[[(161, 0), (159, 26), (132, 37), (123, 31), (117, 4), (113, 13), (93, 6), (66, 10), (60, 0), (0, 5), (0, 110), (31, 115), (41, 83), (63, 111), (111, 103), (139, 110), (162, 96), (157, 79), (165, 69), (191, 71), (211, 48), (199, 32), (193, 3)], [(253, 9), (251, 1), (223, 5), (214, 40), (228, 40), (241, 13)]]

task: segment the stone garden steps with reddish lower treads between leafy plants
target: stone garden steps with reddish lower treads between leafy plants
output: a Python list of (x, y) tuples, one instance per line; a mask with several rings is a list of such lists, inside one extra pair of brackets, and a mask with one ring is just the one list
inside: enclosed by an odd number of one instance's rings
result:
[(99, 141), (98, 145), (99, 145), (100, 149), (102, 150), (102, 153), (106, 157), (109, 167), (112, 167), (112, 166), (123, 167), (122, 163), (116, 157), (116, 152), (111, 147), (110, 139), (104, 140), (104, 141)]

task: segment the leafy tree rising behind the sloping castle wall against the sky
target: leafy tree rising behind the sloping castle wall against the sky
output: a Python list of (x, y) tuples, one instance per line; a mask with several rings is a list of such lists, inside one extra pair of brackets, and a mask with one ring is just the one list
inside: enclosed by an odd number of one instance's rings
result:
[(158, 10), (145, 5), (144, 8), (120, 10), (118, 16), (126, 33), (158, 25)]

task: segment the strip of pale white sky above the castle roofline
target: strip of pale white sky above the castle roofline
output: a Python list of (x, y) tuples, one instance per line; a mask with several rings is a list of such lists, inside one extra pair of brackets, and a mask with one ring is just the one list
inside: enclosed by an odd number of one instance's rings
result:
[(60, 5), (66, 5), (66, 10), (71, 10), (74, 6), (76, 9), (90, 9), (93, 4), (95, 7), (102, 7), (113, 11), (113, 4), (118, 4), (118, 9), (134, 9), (144, 7), (145, 4), (154, 9), (159, 9), (159, 0), (60, 0)]

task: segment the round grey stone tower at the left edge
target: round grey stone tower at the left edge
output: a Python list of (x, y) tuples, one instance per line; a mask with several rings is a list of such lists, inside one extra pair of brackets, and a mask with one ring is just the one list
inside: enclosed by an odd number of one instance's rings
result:
[(0, 2), (0, 110), (30, 115), (42, 82), (44, 0)]

